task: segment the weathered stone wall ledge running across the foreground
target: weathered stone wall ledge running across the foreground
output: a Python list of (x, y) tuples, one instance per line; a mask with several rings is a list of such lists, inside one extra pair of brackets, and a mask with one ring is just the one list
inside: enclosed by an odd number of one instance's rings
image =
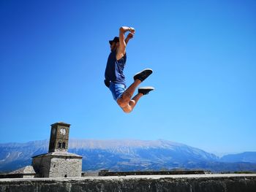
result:
[(256, 174), (2, 179), (0, 180), (0, 191), (255, 192)]

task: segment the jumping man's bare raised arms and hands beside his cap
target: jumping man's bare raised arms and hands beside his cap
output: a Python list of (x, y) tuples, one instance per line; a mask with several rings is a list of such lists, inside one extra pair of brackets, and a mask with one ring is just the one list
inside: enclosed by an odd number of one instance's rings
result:
[[(124, 39), (124, 34), (130, 31), (130, 34), (128, 34), (127, 38)], [(135, 29), (132, 27), (127, 27), (127, 26), (122, 26), (119, 29), (119, 49), (118, 53), (116, 55), (116, 59), (119, 60), (120, 58), (124, 57), (124, 54), (126, 53), (126, 47), (127, 47), (127, 42), (129, 42), (129, 39), (133, 37), (135, 34)]]

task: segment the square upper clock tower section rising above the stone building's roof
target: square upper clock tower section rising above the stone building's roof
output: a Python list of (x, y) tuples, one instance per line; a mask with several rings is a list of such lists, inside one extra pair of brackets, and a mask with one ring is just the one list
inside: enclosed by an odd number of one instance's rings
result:
[(49, 153), (56, 151), (67, 152), (69, 144), (69, 126), (70, 124), (64, 122), (51, 125)]

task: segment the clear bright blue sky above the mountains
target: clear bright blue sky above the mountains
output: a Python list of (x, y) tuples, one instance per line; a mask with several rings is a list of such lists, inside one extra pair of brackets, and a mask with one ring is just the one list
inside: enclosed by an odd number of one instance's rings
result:
[[(256, 1), (0, 1), (0, 142), (167, 139), (256, 151)], [(108, 40), (132, 26), (127, 84), (154, 86), (130, 114), (105, 87)]]

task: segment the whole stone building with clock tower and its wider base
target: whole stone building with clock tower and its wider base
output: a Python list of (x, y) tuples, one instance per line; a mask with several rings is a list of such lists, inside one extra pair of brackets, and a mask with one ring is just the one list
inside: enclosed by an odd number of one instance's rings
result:
[(81, 177), (82, 156), (67, 152), (69, 127), (64, 122), (51, 125), (48, 153), (32, 157), (36, 177)]

